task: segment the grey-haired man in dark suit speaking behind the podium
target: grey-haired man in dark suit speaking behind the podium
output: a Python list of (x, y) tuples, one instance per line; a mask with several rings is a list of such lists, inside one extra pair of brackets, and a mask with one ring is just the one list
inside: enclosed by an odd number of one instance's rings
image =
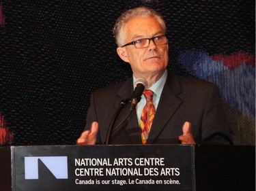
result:
[(91, 95), (87, 124), (76, 141), (78, 145), (106, 141), (111, 118), (120, 101), (132, 96), (133, 83), (139, 78), (147, 81), (147, 89), (153, 93), (153, 104), (148, 106), (152, 109), (151, 123), (145, 125), (147, 128), (141, 123), (147, 97), (143, 94), (126, 120), (129, 105), (117, 116), (115, 126), (124, 122), (110, 144), (231, 143), (218, 88), (210, 82), (167, 72), (166, 25), (157, 12), (147, 7), (128, 10), (117, 19), (113, 33), (117, 54), (130, 64), (133, 77)]

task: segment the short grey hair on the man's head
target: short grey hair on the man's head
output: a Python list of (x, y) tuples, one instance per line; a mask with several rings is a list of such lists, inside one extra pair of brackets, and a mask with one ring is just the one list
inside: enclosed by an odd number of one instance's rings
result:
[(124, 25), (134, 17), (154, 17), (156, 20), (158, 20), (160, 26), (162, 27), (162, 30), (166, 33), (166, 25), (165, 20), (163, 20), (162, 16), (158, 14), (155, 10), (149, 8), (149, 7), (137, 7), (131, 10), (127, 10), (124, 12), (119, 18), (117, 18), (117, 21), (115, 22), (115, 26), (113, 28), (113, 33), (115, 36), (115, 43), (118, 47), (121, 47), (122, 44), (124, 44), (125, 34), (124, 34)]

